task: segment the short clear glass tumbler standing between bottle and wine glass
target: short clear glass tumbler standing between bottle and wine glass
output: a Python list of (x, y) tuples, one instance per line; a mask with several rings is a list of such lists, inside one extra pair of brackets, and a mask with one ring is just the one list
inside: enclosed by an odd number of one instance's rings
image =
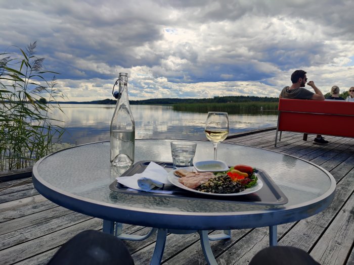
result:
[(197, 144), (187, 141), (171, 142), (173, 169), (193, 166)]

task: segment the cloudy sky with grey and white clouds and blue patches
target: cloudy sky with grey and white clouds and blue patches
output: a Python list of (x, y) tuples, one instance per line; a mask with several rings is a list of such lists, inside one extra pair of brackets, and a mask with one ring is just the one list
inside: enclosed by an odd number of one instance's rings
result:
[[(354, 2), (0, 0), (0, 52), (37, 41), (66, 100), (278, 96), (296, 69), (354, 86)], [(309, 88), (311, 89), (311, 88)]]

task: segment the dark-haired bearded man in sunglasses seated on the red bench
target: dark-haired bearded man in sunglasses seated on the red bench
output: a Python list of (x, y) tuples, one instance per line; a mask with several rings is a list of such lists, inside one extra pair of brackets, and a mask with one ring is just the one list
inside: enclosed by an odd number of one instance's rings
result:
[[(315, 93), (304, 88), (306, 81), (306, 72), (303, 70), (296, 70), (291, 75), (292, 85), (290, 87), (284, 87), (279, 95), (279, 98), (325, 100), (325, 97), (320, 89), (315, 86), (314, 81), (309, 81), (307, 85), (311, 86)], [(314, 140), (314, 143), (327, 144), (328, 141), (326, 141), (322, 135), (318, 134)]]

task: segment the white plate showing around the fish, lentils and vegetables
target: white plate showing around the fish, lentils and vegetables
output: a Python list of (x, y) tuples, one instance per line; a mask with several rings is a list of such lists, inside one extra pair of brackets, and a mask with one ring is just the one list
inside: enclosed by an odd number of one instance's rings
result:
[[(186, 167), (186, 168), (183, 168), (183, 169), (185, 169), (187, 171), (193, 171), (194, 167)], [(184, 190), (192, 191), (192, 192), (195, 192), (195, 193), (201, 193), (201, 194), (207, 194), (207, 195), (215, 195), (215, 196), (237, 196), (237, 195), (246, 195), (246, 194), (250, 194), (250, 193), (256, 192), (257, 190), (260, 190), (263, 187), (263, 182), (258, 178), (256, 185), (252, 186), (251, 188), (247, 188), (244, 191), (237, 192), (237, 193), (222, 194), (222, 193), (202, 192), (202, 191), (199, 191), (199, 190), (190, 189), (190, 188), (186, 187), (185, 185), (183, 185), (182, 183), (180, 183), (178, 181), (178, 179), (180, 177), (174, 175), (174, 171), (175, 170), (172, 170), (172, 171), (170, 171), (168, 173), (168, 176), (167, 176), (168, 180), (176, 187), (179, 187), (179, 188), (184, 189)]]

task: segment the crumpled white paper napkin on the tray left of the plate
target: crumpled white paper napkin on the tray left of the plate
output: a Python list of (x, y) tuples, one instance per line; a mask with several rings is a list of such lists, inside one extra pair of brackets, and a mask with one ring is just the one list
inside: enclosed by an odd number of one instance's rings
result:
[(167, 171), (154, 162), (146, 167), (143, 173), (138, 173), (128, 177), (118, 177), (117, 182), (126, 187), (149, 191), (154, 187), (162, 188), (163, 184), (171, 184), (167, 179)]

